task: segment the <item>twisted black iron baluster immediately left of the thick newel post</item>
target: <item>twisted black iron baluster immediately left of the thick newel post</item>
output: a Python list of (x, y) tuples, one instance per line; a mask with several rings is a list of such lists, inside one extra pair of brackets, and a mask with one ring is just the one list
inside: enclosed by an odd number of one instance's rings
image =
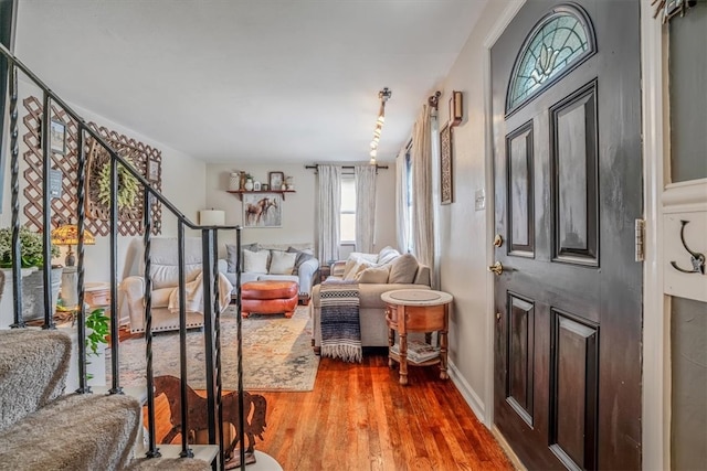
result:
[(194, 453), (189, 448), (189, 395), (187, 385), (187, 280), (184, 277), (184, 221), (177, 220), (177, 250), (179, 259), (179, 377), (181, 396), (181, 452), (182, 458), (193, 458)]

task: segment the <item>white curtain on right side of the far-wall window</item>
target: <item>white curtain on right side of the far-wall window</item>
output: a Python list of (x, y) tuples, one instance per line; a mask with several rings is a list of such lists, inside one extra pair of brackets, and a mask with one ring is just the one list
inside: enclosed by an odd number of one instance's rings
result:
[(356, 249), (373, 253), (376, 235), (376, 165), (356, 165)]

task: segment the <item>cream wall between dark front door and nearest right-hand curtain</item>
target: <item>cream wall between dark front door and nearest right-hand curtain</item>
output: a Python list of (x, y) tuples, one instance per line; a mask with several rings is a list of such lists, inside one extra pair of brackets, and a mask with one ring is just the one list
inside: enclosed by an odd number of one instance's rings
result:
[[(453, 131), (454, 202), (440, 206), (441, 289), (454, 296), (450, 319), (450, 363), (457, 370), (455, 381), (482, 419), (493, 405), (493, 338), (489, 335), (489, 283), (486, 270), (487, 212), (493, 216), (493, 189), (486, 188), (489, 171), (484, 130), (485, 94), (484, 41), (508, 1), (490, 1), (460, 56), (440, 85), (440, 127), (449, 119), (452, 90), (463, 93), (464, 119)], [(475, 211), (476, 190), (486, 192), (486, 210)], [(493, 220), (492, 220), (493, 221)], [(487, 425), (490, 425), (487, 422)]]

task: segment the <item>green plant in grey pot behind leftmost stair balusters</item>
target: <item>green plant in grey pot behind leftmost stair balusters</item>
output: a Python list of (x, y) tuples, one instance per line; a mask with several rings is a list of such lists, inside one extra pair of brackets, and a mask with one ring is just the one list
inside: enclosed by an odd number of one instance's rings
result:
[[(22, 267), (22, 306), (25, 320), (44, 317), (44, 280), (40, 268), (44, 266), (44, 251), (42, 235), (30, 231), (28, 227), (20, 227), (20, 266)], [(57, 257), (59, 247), (52, 246), (52, 257)], [(50, 260), (51, 263), (51, 260)], [(0, 229), (0, 268), (12, 267), (12, 229), (4, 227)], [(61, 286), (62, 269), (52, 268), (52, 302), (56, 306), (59, 288)], [(9, 289), (12, 282), (12, 275), (4, 274), (4, 289), (2, 292), (12, 293)], [(12, 295), (9, 295), (11, 298)], [(9, 309), (7, 310), (10, 311)], [(7, 320), (6, 320), (7, 322)], [(3, 322), (3, 323), (6, 323)], [(9, 323), (9, 322), (8, 322)]]

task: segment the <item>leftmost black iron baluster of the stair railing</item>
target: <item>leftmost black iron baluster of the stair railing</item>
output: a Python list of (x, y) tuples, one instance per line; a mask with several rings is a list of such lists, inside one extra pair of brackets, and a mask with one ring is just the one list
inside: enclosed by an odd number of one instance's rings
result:
[(22, 315), (22, 264), (20, 253), (20, 148), (18, 144), (18, 68), (10, 61), (10, 186), (12, 205), (12, 329), (27, 324)]

